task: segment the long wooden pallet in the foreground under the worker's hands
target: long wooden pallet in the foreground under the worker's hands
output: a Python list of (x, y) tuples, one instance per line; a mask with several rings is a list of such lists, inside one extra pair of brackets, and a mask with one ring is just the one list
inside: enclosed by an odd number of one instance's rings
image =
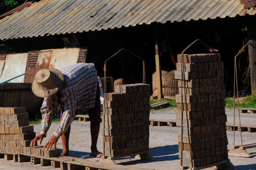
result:
[(14, 162), (31, 162), (31, 164), (40, 164), (41, 166), (60, 167), (61, 170), (86, 169), (86, 170), (153, 170), (136, 166), (122, 166), (117, 164), (105, 164), (102, 162), (81, 159), (77, 157), (41, 157), (27, 153), (0, 153), (0, 158), (8, 158)]

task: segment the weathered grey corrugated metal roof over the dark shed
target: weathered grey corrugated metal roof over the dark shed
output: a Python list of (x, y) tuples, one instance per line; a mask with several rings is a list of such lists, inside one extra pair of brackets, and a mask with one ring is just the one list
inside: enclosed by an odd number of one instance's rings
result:
[(255, 13), (240, 0), (42, 0), (0, 20), (0, 39)]

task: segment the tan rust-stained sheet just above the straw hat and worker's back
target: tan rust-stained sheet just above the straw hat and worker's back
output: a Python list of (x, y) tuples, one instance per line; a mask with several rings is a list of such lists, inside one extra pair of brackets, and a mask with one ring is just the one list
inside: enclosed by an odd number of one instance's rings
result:
[(50, 68), (63, 69), (70, 64), (76, 64), (79, 57), (79, 48), (54, 49)]

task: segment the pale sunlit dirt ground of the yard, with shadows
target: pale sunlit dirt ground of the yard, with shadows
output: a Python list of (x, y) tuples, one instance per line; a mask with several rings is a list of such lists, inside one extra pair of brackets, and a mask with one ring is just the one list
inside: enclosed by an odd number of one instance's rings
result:
[[(166, 108), (164, 110), (151, 111), (150, 117), (154, 118), (175, 118), (176, 108)], [(232, 110), (227, 110), (228, 121), (232, 120)], [(256, 114), (249, 115), (242, 120), (248, 122), (256, 122)], [(44, 139), (42, 145), (51, 138), (52, 133), (56, 129), (58, 123), (54, 122), (49, 129), (47, 137)], [(34, 125), (35, 132), (38, 134), (40, 131), (40, 124)], [(233, 144), (233, 132), (228, 132), (228, 143)], [(236, 144), (240, 145), (240, 133), (236, 132)], [(90, 157), (90, 122), (74, 121), (71, 125), (70, 134), (70, 150), (71, 156), (83, 157), (84, 159), (95, 160)], [(150, 127), (150, 152), (155, 160), (146, 161), (138, 160), (134, 162), (127, 162), (125, 166), (138, 166), (150, 169), (179, 169), (179, 150), (177, 145), (177, 127)], [(256, 132), (243, 132), (243, 143), (256, 143)], [(58, 148), (62, 148), (61, 139), (59, 139)], [(100, 131), (98, 148), (102, 151), (102, 134)], [(230, 148), (230, 146), (228, 146)], [(237, 169), (256, 169), (256, 148), (247, 150), (252, 155), (251, 158), (229, 157), (230, 162), (236, 166)], [(18, 163), (13, 160), (0, 159), (0, 169), (51, 169), (50, 166), (42, 167), (40, 164), (31, 165), (30, 162)], [(59, 168), (60, 169), (60, 168)], [(211, 169), (211, 168), (209, 168)]]

